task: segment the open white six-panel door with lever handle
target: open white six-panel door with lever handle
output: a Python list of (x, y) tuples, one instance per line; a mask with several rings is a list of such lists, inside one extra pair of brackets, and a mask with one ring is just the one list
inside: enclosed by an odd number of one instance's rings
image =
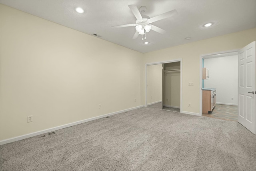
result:
[(238, 122), (256, 134), (255, 42), (238, 52)]

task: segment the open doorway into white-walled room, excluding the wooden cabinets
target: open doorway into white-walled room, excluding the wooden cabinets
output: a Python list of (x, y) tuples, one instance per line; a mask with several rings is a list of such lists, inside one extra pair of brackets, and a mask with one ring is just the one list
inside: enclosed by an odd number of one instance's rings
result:
[(202, 67), (209, 72), (208, 78), (202, 80), (203, 93), (208, 91), (204, 89), (216, 89), (216, 104), (212, 111), (203, 112), (203, 116), (237, 121), (238, 87), (234, 86), (238, 83), (237, 66), (237, 52), (202, 57)]

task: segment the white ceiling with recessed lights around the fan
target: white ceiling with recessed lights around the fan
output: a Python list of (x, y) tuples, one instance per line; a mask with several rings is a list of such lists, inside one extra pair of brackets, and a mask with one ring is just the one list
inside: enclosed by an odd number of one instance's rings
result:
[[(1, 4), (50, 20), (126, 48), (146, 53), (256, 27), (256, 0), (0, 0)], [(154, 22), (167, 31), (151, 30), (145, 45), (135, 27), (112, 26), (135, 23), (128, 5), (146, 6), (150, 18), (176, 9), (176, 16)], [(83, 14), (75, 11), (84, 9)], [(213, 22), (205, 28), (204, 24)], [(190, 40), (185, 40), (191, 37)]]

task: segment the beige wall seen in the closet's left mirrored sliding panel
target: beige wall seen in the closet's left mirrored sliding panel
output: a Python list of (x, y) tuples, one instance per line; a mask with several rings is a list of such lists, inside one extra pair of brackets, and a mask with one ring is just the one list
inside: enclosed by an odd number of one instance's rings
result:
[(162, 101), (162, 64), (147, 66), (147, 104)]

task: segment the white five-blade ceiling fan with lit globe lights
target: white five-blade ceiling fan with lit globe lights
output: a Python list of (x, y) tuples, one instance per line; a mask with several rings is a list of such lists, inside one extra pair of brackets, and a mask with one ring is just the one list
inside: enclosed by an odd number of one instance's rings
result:
[[(112, 26), (116, 28), (121, 28), (121, 27), (130, 27), (130, 26), (135, 26), (136, 32), (134, 36), (132, 37), (133, 39), (138, 38), (139, 34), (142, 35), (142, 40), (146, 39), (146, 33), (149, 32), (150, 30), (154, 30), (155, 32), (158, 32), (160, 34), (165, 34), (166, 31), (163, 30), (162, 28), (159, 28), (157, 26), (152, 25), (151, 23), (174, 16), (177, 14), (176, 10), (172, 10), (169, 12), (166, 12), (164, 14), (160, 14), (158, 16), (155, 16), (153, 18), (149, 18), (148, 16), (141, 15), (140, 12), (143, 14), (146, 11), (146, 6), (141, 6), (140, 9), (138, 9), (135, 5), (128, 5), (129, 8), (132, 10), (132, 13), (136, 17), (136, 23), (135, 24), (125, 24), (125, 25), (120, 25), (120, 26)], [(144, 35), (144, 37), (143, 37)]]

